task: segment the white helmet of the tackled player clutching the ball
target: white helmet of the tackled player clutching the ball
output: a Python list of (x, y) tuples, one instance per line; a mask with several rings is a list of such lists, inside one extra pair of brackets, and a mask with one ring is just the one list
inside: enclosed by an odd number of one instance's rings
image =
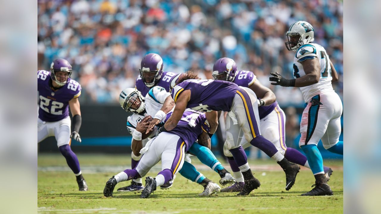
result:
[[(140, 99), (140, 105), (138, 109), (134, 109), (132, 107), (132, 104), (137, 100)], [(126, 110), (127, 112), (133, 112), (133, 113), (142, 113), (144, 112), (144, 109), (146, 108), (146, 105), (144, 104), (144, 97), (138, 91), (136, 88), (126, 88), (124, 89), (120, 95), (119, 95), (119, 103), (122, 109)], [(139, 102), (139, 101), (138, 101)]]

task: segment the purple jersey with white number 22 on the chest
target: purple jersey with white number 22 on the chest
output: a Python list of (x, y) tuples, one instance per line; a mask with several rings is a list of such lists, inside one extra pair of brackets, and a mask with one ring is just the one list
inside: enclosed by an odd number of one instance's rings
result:
[(51, 89), (50, 72), (37, 72), (37, 91), (40, 108), (38, 118), (46, 122), (54, 122), (69, 117), (69, 101), (81, 95), (81, 85), (75, 80), (68, 79), (67, 83), (54, 91)]

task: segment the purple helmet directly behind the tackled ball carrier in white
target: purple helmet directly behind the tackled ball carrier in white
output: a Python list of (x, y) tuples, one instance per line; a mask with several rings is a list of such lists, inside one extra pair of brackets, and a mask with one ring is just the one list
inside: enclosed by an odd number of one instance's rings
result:
[(153, 87), (163, 74), (163, 59), (159, 54), (149, 53), (141, 62), (140, 77), (147, 87)]

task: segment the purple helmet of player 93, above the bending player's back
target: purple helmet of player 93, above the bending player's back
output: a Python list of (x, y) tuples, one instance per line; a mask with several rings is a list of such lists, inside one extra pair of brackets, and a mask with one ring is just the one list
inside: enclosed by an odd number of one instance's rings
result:
[(233, 81), (237, 75), (237, 65), (234, 60), (224, 57), (220, 58), (213, 65), (213, 77), (215, 80)]

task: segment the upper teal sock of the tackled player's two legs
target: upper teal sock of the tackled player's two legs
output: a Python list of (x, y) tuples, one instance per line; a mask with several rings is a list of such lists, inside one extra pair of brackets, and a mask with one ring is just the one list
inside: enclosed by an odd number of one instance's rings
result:
[(213, 169), (215, 172), (218, 172), (224, 167), (221, 163), (217, 160), (216, 156), (213, 155), (212, 151), (208, 149), (208, 147), (202, 146), (198, 143), (194, 143), (191, 148), (189, 149), (189, 152), (194, 154), (201, 163), (209, 166), (211, 169)]

